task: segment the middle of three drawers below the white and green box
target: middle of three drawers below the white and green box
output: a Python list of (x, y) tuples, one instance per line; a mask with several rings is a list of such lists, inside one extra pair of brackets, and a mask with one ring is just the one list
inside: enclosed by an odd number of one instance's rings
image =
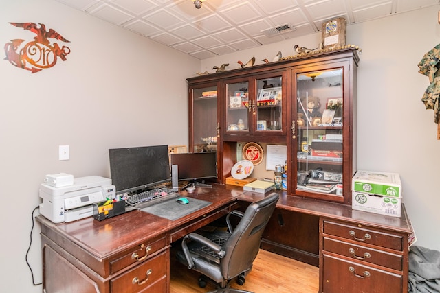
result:
[(351, 244), (349, 242), (342, 242), (336, 239), (329, 239), (327, 237), (324, 238), (324, 247), (322, 249), (331, 253), (337, 253), (338, 255), (351, 257), (353, 260), (375, 263), (379, 266), (392, 268), (394, 270), (403, 270), (401, 255), (385, 253), (381, 250)]

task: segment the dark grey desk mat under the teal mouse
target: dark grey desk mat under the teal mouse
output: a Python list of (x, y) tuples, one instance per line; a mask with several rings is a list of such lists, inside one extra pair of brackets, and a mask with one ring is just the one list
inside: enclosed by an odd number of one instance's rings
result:
[[(186, 198), (188, 198), (188, 196), (186, 196)], [(177, 198), (173, 198), (172, 200), (159, 202), (150, 207), (144, 207), (141, 211), (174, 221), (212, 204), (212, 202), (198, 200), (197, 198), (188, 198), (188, 204), (179, 204), (176, 200)]]

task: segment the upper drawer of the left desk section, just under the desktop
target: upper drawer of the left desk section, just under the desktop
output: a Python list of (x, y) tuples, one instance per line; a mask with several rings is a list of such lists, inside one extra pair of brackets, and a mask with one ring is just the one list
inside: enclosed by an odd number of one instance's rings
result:
[(110, 260), (110, 274), (118, 272), (122, 268), (131, 265), (132, 263), (141, 262), (148, 258), (148, 255), (153, 255), (153, 253), (161, 250), (166, 246), (165, 237), (159, 239), (153, 239), (149, 243), (142, 243), (135, 248), (128, 250)]

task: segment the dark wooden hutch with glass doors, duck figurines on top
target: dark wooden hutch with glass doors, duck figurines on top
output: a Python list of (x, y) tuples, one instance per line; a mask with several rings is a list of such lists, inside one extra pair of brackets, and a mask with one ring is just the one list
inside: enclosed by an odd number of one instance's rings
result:
[(189, 149), (217, 149), (225, 183), (237, 142), (287, 145), (287, 194), (349, 204), (358, 62), (349, 48), (188, 78)]

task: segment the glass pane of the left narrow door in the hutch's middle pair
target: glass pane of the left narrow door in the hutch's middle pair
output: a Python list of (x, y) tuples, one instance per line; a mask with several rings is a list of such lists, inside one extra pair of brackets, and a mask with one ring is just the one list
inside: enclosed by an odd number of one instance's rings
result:
[(249, 113), (252, 105), (249, 99), (249, 82), (234, 82), (226, 84), (227, 91), (227, 132), (249, 132)]

